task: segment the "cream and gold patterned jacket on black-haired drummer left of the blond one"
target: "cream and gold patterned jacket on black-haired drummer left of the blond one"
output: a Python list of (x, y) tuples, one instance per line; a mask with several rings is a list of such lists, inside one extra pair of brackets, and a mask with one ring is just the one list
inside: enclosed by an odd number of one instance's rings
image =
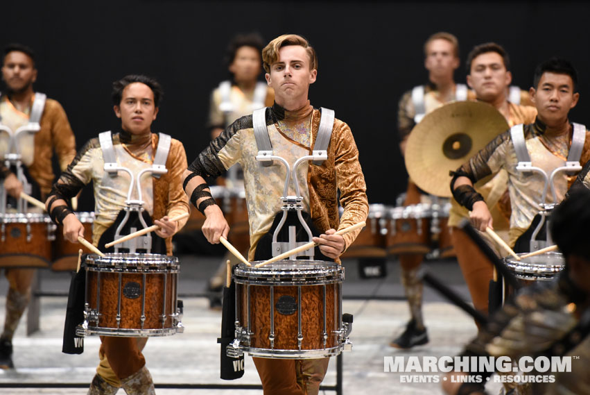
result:
[[(112, 142), (119, 165), (137, 172), (152, 164), (158, 135), (152, 134), (152, 152), (146, 153), (141, 158), (126, 149), (125, 144), (121, 142), (119, 133), (112, 136)], [(96, 212), (92, 228), (94, 245), (98, 245), (101, 235), (114, 223), (116, 215), (125, 207), (129, 187), (129, 176), (124, 171), (119, 171), (119, 175), (112, 178), (105, 174), (104, 166), (105, 160), (101, 143), (98, 138), (93, 138), (78, 152), (76, 158), (62, 173), (51, 191), (51, 195), (58, 194), (65, 198), (71, 198), (91, 181), (94, 183)], [(144, 174), (144, 178), (142, 178), (142, 197), (146, 202), (144, 208), (153, 220), (166, 215), (174, 217), (189, 212), (189, 199), (182, 190), (182, 173), (186, 169), (186, 153), (182, 142), (171, 140), (166, 169), (168, 172), (159, 178), (153, 178), (150, 174)], [(135, 196), (134, 193), (132, 199)], [(186, 219), (178, 221), (179, 230), (184, 224), (186, 224)], [(168, 255), (172, 253), (172, 237), (166, 238), (166, 253)]]

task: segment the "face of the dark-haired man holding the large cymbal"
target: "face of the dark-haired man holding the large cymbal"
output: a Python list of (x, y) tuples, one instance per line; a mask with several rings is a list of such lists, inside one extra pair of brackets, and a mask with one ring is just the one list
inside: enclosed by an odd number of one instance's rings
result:
[(505, 97), (510, 83), (512, 74), (506, 70), (499, 53), (482, 53), (471, 61), (467, 84), (476, 92), (479, 100), (493, 102), (500, 96)]

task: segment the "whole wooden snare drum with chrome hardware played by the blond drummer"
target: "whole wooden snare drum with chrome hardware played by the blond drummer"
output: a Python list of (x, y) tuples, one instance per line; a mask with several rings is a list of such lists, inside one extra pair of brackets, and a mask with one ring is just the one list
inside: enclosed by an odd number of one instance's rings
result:
[(325, 358), (351, 348), (342, 323), (344, 268), (333, 262), (282, 260), (260, 268), (239, 264), (236, 339), (228, 355)]

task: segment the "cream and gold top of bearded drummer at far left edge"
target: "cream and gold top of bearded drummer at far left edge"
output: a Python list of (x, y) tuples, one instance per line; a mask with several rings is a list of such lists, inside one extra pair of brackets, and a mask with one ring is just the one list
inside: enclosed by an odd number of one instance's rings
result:
[[(12, 131), (28, 123), (29, 111), (17, 110), (8, 100), (8, 96), (3, 95), (0, 98), (0, 124), (8, 126)], [(60, 169), (63, 171), (76, 156), (76, 140), (64, 109), (53, 99), (45, 101), (40, 126), (41, 130), (37, 133), (22, 135), (19, 144), (22, 162), (31, 177), (39, 184), (44, 199), (51, 191), (51, 184), (55, 178), (51, 167), (53, 150), (58, 155)], [(0, 157), (5, 153), (8, 153), (8, 139), (5, 133), (0, 133)], [(0, 164), (0, 171), (4, 176), (8, 175), (8, 169), (3, 163)]]

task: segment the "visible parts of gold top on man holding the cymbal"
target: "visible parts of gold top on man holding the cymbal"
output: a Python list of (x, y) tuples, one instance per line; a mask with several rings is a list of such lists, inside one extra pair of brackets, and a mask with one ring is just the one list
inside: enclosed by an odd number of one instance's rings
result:
[[(535, 117), (537, 117), (537, 108), (535, 107), (519, 106), (510, 102), (508, 103), (508, 106), (510, 115), (506, 121), (508, 121), (508, 126), (511, 128), (512, 126), (519, 124), (532, 124), (532, 122), (535, 121)], [(495, 230), (507, 230), (509, 227), (508, 222), (501, 215), (497, 204), (503, 196), (507, 186), (508, 174), (506, 171), (502, 170), (499, 171), (492, 180), (485, 183), (485, 185), (476, 187), (476, 191), (482, 194), (485, 203), (487, 203), (487, 207), (489, 207), (490, 212), (492, 212)], [(463, 218), (469, 218), (469, 210), (462, 207), (462, 205), (457, 203), (454, 198), (451, 199), (449, 226), (458, 226)]]

